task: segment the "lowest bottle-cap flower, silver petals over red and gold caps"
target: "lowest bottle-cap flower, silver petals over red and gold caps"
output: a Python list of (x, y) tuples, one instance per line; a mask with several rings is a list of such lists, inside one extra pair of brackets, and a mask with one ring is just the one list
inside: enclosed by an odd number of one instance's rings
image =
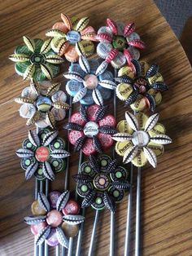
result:
[(49, 200), (38, 193), (37, 201), (32, 204), (33, 216), (25, 217), (24, 222), (31, 226), (31, 232), (36, 236), (36, 245), (44, 241), (50, 246), (62, 245), (68, 248), (68, 238), (76, 236), (78, 224), (85, 217), (77, 215), (79, 206), (76, 201), (69, 200), (69, 192), (62, 194), (50, 192)]

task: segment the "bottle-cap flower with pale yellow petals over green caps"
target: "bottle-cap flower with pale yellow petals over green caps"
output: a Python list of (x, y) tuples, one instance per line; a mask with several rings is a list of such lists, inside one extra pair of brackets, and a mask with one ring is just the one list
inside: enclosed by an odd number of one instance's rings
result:
[(17, 46), (15, 54), (9, 59), (15, 61), (15, 71), (24, 80), (34, 78), (37, 81), (51, 80), (59, 73), (59, 64), (63, 59), (50, 47), (51, 39), (45, 42), (41, 39), (24, 37), (25, 45)]

